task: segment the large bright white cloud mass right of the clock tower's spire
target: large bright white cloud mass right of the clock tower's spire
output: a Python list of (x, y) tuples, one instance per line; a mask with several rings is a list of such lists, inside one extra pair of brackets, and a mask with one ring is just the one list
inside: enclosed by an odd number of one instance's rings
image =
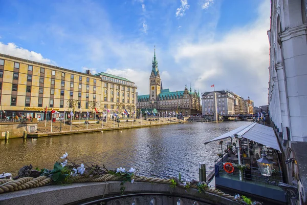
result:
[(215, 90), (229, 89), (244, 98), (250, 96), (255, 105), (267, 104), (269, 17), (270, 2), (264, 1), (255, 22), (225, 33), (221, 40), (182, 39), (185, 43), (171, 51), (176, 63), (186, 67), (179, 81), (190, 80), (202, 92), (215, 84)]

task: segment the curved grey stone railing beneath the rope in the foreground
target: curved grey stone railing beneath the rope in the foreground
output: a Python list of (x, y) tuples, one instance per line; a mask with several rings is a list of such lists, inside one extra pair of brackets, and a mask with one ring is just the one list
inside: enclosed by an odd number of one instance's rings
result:
[(213, 193), (198, 193), (196, 189), (171, 188), (169, 185), (148, 182), (120, 181), (85, 182), (56, 185), (9, 192), (0, 195), (0, 204), (240, 204)]

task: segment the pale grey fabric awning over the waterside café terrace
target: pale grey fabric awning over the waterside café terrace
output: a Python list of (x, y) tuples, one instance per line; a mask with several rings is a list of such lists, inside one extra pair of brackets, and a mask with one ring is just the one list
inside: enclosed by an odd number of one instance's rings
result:
[(215, 137), (214, 139), (205, 142), (205, 145), (211, 141), (217, 141), (228, 137), (236, 137), (236, 136), (242, 136), (244, 138), (256, 141), (262, 145), (268, 146), (270, 148), (273, 148), (281, 152), (273, 128), (258, 124), (257, 122), (254, 122), (253, 124), (247, 126), (245, 125), (239, 127), (221, 136)]

